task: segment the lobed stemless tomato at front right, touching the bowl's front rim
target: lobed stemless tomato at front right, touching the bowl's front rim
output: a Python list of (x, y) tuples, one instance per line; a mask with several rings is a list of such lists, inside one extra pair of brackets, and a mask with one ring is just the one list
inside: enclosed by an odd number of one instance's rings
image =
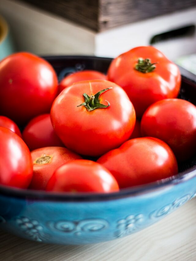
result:
[(128, 140), (97, 162), (112, 173), (120, 188), (146, 184), (178, 173), (170, 147), (151, 137)]

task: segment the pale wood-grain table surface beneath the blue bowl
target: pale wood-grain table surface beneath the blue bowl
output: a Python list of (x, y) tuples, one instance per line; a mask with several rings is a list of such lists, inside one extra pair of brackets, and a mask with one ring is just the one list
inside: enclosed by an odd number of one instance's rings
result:
[(196, 198), (133, 235), (93, 245), (32, 242), (0, 231), (2, 261), (195, 261)]

